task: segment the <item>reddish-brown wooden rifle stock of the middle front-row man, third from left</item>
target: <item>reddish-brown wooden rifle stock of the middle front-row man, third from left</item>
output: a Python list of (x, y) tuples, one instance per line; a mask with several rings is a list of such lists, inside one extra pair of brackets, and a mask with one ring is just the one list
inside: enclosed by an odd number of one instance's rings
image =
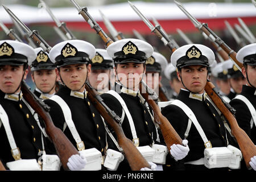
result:
[[(162, 131), (162, 134), (163, 134), (164, 142), (166, 143), (166, 146), (170, 151), (171, 149), (170, 147), (172, 146), (172, 144), (182, 144), (182, 139), (180, 138), (179, 134), (177, 134), (174, 127), (172, 127), (168, 119), (162, 115), (161, 110), (158, 104), (156, 103), (157, 99), (155, 100), (155, 98), (152, 98), (151, 89), (146, 84), (143, 84), (142, 82), (140, 83), (141, 95), (153, 110), (154, 121), (159, 125), (160, 130)], [(145, 92), (146, 90), (147, 92)]]

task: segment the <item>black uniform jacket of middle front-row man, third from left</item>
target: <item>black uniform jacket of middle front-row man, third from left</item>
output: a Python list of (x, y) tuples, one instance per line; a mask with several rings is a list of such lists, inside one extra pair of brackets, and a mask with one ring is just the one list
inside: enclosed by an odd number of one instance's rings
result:
[[(142, 104), (142, 101), (138, 96), (134, 97), (126, 93), (120, 93), (119, 91), (120, 90), (117, 90), (116, 92), (119, 93), (119, 95), (125, 101), (125, 104), (130, 111), (131, 117), (133, 118), (137, 137), (139, 138), (139, 146), (151, 145), (153, 140), (156, 140), (156, 127), (150, 117), (150, 114), (147, 111), (147, 107)], [(105, 104), (108, 105), (109, 108), (121, 118), (122, 106), (117, 98), (108, 93), (102, 94), (101, 97), (104, 99)], [(122, 129), (126, 137), (130, 140), (133, 140), (131, 127), (126, 115), (122, 122)], [(109, 148), (118, 150), (115, 146), (109, 146)], [(127, 164), (127, 160), (124, 160), (124, 162), (119, 165), (118, 170), (130, 170), (130, 167)]]

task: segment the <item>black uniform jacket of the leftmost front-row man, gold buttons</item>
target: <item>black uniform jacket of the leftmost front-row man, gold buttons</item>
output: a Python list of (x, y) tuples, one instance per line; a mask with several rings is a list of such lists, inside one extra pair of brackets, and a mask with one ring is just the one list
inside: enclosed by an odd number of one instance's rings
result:
[[(38, 159), (42, 148), (41, 130), (31, 111), (22, 100), (9, 100), (4, 98), (5, 93), (0, 90), (0, 104), (6, 111), (16, 146), (20, 150), (22, 159)], [(11, 147), (7, 139), (5, 127), (0, 128), (0, 158), (5, 164), (14, 161)], [(45, 144), (45, 149), (47, 145)], [(42, 155), (42, 154), (41, 154)]]

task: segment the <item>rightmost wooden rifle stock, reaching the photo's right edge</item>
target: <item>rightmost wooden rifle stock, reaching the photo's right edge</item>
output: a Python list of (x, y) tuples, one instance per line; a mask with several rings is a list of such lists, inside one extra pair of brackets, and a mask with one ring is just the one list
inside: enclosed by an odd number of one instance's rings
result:
[(207, 92), (210, 99), (218, 107), (224, 117), (228, 120), (232, 134), (237, 140), (240, 150), (245, 160), (246, 167), (250, 168), (250, 158), (256, 155), (256, 147), (248, 135), (237, 124), (237, 120), (229, 109), (223, 104), (220, 96), (214, 91), (215, 86), (208, 81), (205, 86), (205, 92)]

